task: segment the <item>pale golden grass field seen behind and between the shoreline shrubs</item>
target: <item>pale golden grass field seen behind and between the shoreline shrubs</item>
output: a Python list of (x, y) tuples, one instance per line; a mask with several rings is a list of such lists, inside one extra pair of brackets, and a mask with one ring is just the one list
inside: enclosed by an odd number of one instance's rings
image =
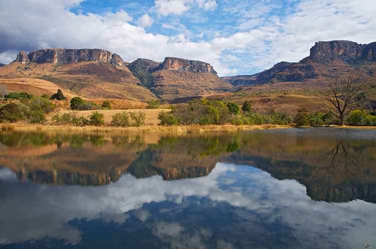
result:
[(92, 112), (100, 112), (104, 115), (105, 124), (109, 125), (112, 121), (112, 116), (121, 112), (144, 112), (145, 113), (145, 125), (157, 125), (159, 124), (158, 114), (160, 112), (168, 112), (169, 109), (128, 109), (128, 110), (94, 110), (94, 111), (71, 111), (62, 110), (61, 113), (75, 112), (77, 116), (89, 116)]

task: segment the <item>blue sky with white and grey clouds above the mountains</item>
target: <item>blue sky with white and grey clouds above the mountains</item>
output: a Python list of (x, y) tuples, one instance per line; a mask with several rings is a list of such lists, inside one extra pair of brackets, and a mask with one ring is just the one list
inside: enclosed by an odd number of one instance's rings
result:
[(376, 41), (374, 13), (374, 0), (0, 0), (0, 62), (20, 50), (102, 48), (253, 74), (301, 60), (317, 41)]

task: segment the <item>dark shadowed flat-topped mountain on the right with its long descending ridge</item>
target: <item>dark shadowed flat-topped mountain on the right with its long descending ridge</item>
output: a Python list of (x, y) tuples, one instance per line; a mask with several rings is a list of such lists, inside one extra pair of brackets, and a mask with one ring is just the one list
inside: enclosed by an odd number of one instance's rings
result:
[[(360, 66), (360, 67), (359, 67)], [(298, 63), (280, 62), (271, 69), (249, 76), (225, 77), (234, 86), (262, 85), (275, 82), (303, 82), (330, 78), (356, 71), (363, 77), (376, 72), (376, 42), (357, 44), (351, 41), (317, 42), (310, 55)]]

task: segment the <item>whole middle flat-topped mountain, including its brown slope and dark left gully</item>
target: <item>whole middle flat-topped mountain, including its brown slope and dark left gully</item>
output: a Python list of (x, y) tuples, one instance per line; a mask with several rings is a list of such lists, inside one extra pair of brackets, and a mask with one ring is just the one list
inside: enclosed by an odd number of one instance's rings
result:
[(137, 59), (128, 68), (161, 99), (190, 97), (228, 91), (232, 86), (222, 81), (206, 62), (166, 57), (163, 62)]

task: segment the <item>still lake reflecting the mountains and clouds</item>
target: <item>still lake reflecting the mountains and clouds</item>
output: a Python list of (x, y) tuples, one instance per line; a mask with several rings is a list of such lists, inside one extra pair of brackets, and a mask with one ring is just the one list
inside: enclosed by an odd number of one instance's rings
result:
[(0, 133), (0, 248), (376, 248), (376, 130)]

